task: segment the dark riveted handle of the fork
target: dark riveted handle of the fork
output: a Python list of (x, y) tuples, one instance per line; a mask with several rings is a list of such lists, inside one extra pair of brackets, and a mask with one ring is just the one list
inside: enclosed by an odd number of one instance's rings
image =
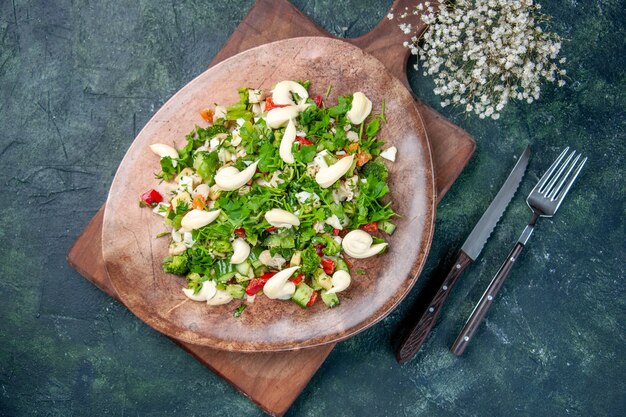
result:
[(524, 249), (524, 244), (517, 242), (515, 246), (513, 246), (513, 249), (511, 249), (511, 252), (509, 252), (509, 256), (506, 258), (506, 261), (504, 261), (496, 275), (491, 280), (487, 290), (480, 298), (480, 301), (478, 301), (478, 304), (476, 304), (476, 307), (474, 307), (474, 311), (470, 314), (469, 318), (465, 322), (465, 326), (463, 326), (463, 330), (461, 330), (461, 333), (459, 333), (459, 336), (456, 338), (456, 341), (450, 349), (455, 355), (461, 356), (463, 352), (465, 352), (465, 348), (469, 344), (470, 340), (472, 340), (472, 337), (474, 336), (474, 333), (476, 333), (476, 329), (478, 329), (480, 323), (483, 321), (483, 318), (485, 318), (487, 310), (491, 307), (493, 299), (502, 287), (502, 284), (504, 284), (504, 280), (509, 275), (509, 272), (511, 272), (511, 269), (522, 252), (522, 249)]

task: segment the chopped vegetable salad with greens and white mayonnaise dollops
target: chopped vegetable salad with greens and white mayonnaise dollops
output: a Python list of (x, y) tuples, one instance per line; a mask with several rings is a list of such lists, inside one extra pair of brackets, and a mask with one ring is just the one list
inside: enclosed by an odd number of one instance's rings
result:
[(384, 159), (396, 149), (379, 138), (384, 101), (371, 114), (361, 92), (330, 106), (308, 88), (242, 88), (239, 102), (203, 110), (208, 127), (182, 148), (151, 145), (162, 181), (141, 204), (171, 227), (163, 270), (186, 277), (190, 299), (240, 300), (236, 317), (260, 294), (335, 307), (358, 279), (350, 259), (385, 251), (395, 213)]

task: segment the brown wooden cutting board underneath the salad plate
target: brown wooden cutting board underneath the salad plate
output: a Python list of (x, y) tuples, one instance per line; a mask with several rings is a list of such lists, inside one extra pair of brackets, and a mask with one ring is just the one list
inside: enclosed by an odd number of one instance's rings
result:
[[(415, 6), (414, 1), (397, 0), (392, 10), (399, 14), (411, 6)], [(423, 28), (416, 21), (413, 27)], [(286, 0), (259, 0), (211, 65), (254, 46), (298, 36), (329, 35)], [(405, 38), (397, 21), (385, 18), (372, 32), (350, 42), (380, 59), (408, 87), (408, 51), (402, 47)], [(469, 161), (475, 143), (430, 107), (418, 101), (418, 108), (431, 144), (439, 201)], [(74, 242), (67, 258), (81, 275), (119, 301), (102, 258), (103, 213), (101, 208)], [(264, 411), (277, 416), (287, 411), (334, 347), (329, 344), (280, 353), (233, 353), (172, 340)], [(296, 369), (293, 363), (300, 365)]]

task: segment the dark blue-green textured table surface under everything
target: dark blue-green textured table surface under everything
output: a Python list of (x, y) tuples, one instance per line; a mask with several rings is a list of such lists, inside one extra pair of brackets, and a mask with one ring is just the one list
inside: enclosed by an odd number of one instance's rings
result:
[[(261, 415), (249, 400), (65, 261), (154, 112), (203, 71), (252, 6), (0, 3), (0, 415)], [(369, 31), (390, 1), (294, 4), (331, 33)], [(402, 305), (340, 343), (291, 416), (609, 416), (626, 413), (626, 13), (619, 0), (544, 2), (571, 81), (498, 121), (442, 113), (477, 142), (444, 197), (428, 262)], [(409, 69), (436, 106), (432, 80)], [(417, 357), (390, 340), (436, 281), (526, 145), (527, 175)], [(538, 225), (463, 358), (449, 352), (528, 220), (524, 196), (570, 145), (589, 161)], [(279, 388), (278, 388), (279, 389)]]

